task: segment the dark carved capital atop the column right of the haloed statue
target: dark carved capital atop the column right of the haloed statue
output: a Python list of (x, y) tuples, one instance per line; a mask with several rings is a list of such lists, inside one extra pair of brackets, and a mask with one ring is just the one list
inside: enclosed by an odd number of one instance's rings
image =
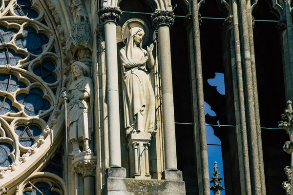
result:
[(175, 15), (173, 11), (168, 10), (156, 10), (150, 18), (156, 28), (160, 25), (167, 25), (171, 27), (174, 24)]

